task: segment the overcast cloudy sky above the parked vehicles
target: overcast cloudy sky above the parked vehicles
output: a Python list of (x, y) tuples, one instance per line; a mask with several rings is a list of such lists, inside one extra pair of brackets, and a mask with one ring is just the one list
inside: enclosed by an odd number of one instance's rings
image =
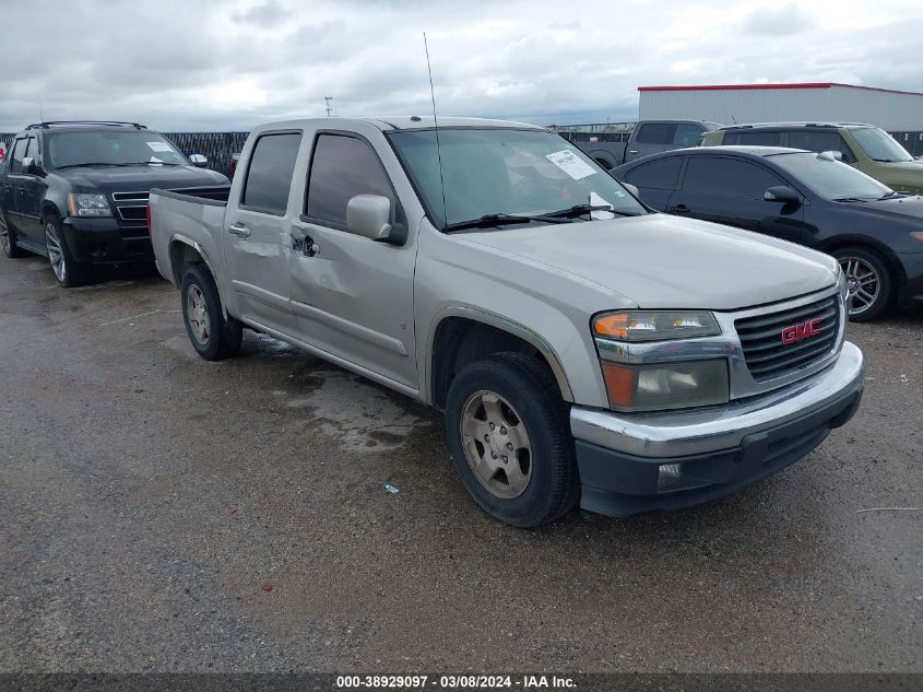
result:
[(0, 131), (248, 129), (324, 114), (630, 120), (640, 85), (923, 91), (923, 2), (0, 0)]

